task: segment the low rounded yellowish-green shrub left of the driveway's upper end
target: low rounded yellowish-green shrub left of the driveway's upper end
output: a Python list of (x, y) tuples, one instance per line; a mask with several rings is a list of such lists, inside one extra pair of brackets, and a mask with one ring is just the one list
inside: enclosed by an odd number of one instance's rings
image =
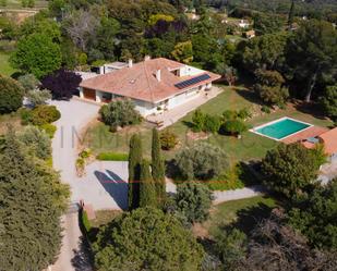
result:
[(56, 122), (60, 118), (61, 113), (55, 106), (38, 106), (32, 110), (31, 122), (34, 125), (44, 125)]

